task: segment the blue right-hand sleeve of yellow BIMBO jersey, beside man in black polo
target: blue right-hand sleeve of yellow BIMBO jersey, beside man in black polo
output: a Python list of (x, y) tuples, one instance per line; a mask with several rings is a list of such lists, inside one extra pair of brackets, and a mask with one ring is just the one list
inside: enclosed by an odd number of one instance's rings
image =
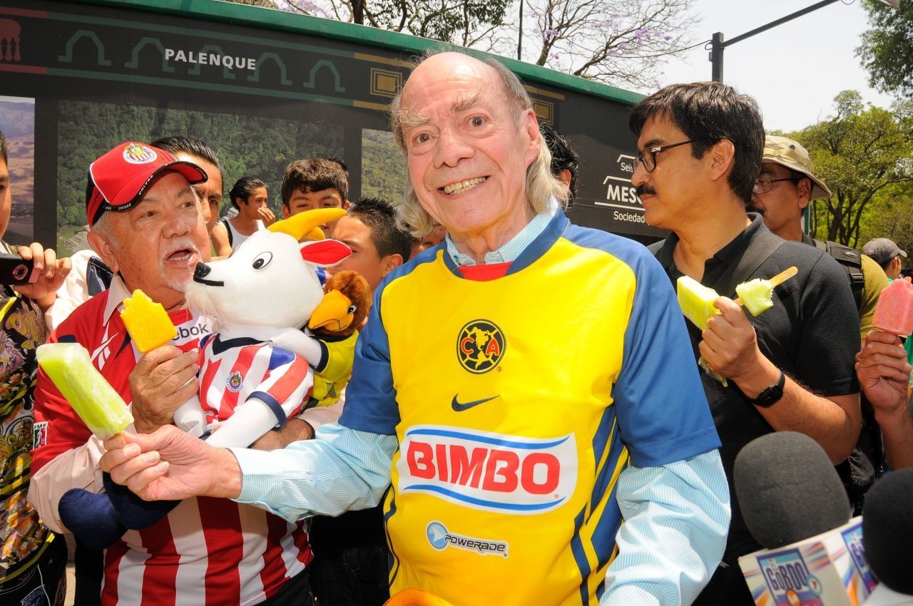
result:
[(635, 297), (613, 396), (632, 463), (666, 465), (719, 448), (671, 281), (642, 246), (624, 260), (635, 272)]

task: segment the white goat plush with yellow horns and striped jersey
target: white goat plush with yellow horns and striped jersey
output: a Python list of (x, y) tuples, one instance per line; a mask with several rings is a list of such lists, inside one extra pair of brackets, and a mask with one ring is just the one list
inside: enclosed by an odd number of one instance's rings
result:
[(176, 425), (195, 435), (213, 430), (208, 442), (216, 446), (247, 446), (301, 412), (321, 355), (320, 343), (301, 331), (324, 297), (317, 267), (352, 250), (336, 240), (299, 244), (297, 234), (313, 236), (342, 214), (294, 215), (228, 258), (196, 265), (187, 303), (213, 320), (213, 334), (200, 341), (199, 397), (175, 411)]

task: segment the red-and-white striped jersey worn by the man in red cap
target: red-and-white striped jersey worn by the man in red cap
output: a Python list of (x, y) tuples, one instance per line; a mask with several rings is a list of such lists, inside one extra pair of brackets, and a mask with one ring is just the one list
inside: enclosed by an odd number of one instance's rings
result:
[[(139, 353), (121, 314), (115, 313), (127, 296), (121, 280), (115, 278), (110, 290), (77, 308), (48, 342), (84, 345), (96, 368), (130, 402), (129, 375)], [(178, 329), (173, 344), (183, 350), (193, 349), (210, 332), (211, 322), (189, 310), (169, 315)], [(43, 371), (35, 401), (36, 421), (46, 423), (43, 444), (33, 451), (37, 471), (55, 456), (86, 444), (90, 432)], [(274, 595), (312, 558), (304, 522), (289, 523), (229, 499), (191, 498), (151, 528), (131, 530), (106, 550), (101, 603), (247, 606)]]

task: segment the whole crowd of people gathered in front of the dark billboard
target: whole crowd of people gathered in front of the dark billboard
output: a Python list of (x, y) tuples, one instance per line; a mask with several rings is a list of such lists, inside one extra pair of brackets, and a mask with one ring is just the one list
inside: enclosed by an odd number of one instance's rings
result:
[[(649, 249), (570, 223), (579, 157), (497, 61), (430, 54), (391, 113), (400, 204), (350, 202), (338, 158), (286, 170), (282, 219), (345, 209), (320, 226), (351, 251), (327, 271), (358, 272), (373, 306), (339, 402), (249, 448), (173, 414), (213, 329), (185, 298), (194, 271), (278, 220), (259, 177), (237, 179), (219, 217), (204, 141), (126, 141), (88, 167), (91, 250), (17, 249), (40, 277), (3, 295), (4, 602), (62, 603), (61, 535), (79, 525), (78, 605), (379, 606), (414, 587), (455, 605), (748, 605), (738, 559), (761, 546), (732, 484), (743, 446), (812, 437), (847, 511), (913, 466), (913, 367), (872, 326), (907, 254), (804, 234), (830, 192), (802, 145), (765, 136), (753, 99), (702, 82), (632, 108), (632, 184), (669, 234)], [(2, 233), (2, 135), (0, 161)], [(792, 266), (773, 308), (734, 302)], [(682, 316), (683, 276), (721, 295), (706, 329)], [(142, 354), (117, 313), (137, 288), (179, 332)], [(89, 350), (131, 406), (127, 431), (89, 431), (37, 369), (46, 341)], [(68, 522), (85, 489), (161, 511), (99, 545), (92, 520)]]

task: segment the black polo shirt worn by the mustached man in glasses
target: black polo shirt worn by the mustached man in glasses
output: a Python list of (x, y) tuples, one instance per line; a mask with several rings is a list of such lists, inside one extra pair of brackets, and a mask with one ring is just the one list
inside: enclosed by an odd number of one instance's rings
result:
[[(762, 231), (768, 231), (760, 215), (749, 216), (751, 224), (745, 231), (706, 261), (701, 284), (714, 289), (725, 287), (750, 242)], [(672, 258), (677, 243), (677, 235), (669, 235), (656, 251), (656, 258), (666, 269), (673, 285), (682, 276)], [(757, 318), (745, 310), (758, 336), (761, 353), (792, 379), (818, 395), (859, 392), (854, 370), (855, 354), (860, 346), (859, 317), (843, 268), (831, 256), (813, 246), (784, 242), (745, 280), (755, 277), (767, 279), (789, 266), (796, 266), (799, 272), (774, 288), (773, 307)], [(735, 298), (734, 292), (719, 294)], [(697, 360), (700, 330), (691, 322), (686, 323)], [(732, 522), (724, 560), (738, 565), (736, 560), (739, 556), (761, 549), (761, 545), (751, 538), (742, 521), (732, 486), (732, 466), (742, 446), (756, 437), (771, 433), (773, 429), (732, 381), (724, 387), (706, 372), (701, 371), (700, 375), (723, 444), (720, 455), (732, 499)]]

